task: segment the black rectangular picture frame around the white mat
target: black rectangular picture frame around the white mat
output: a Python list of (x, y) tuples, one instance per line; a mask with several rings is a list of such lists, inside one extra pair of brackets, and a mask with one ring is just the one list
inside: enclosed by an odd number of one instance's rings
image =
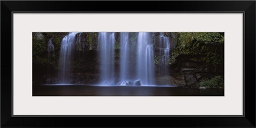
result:
[[(255, 3), (1, 1), (1, 127), (255, 127)], [(12, 116), (12, 12), (243, 12), (244, 116)]]

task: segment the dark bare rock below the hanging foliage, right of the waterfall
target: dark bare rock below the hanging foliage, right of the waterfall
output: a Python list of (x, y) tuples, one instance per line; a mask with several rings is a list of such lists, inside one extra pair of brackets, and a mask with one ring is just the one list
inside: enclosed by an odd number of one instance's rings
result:
[(180, 87), (194, 87), (201, 79), (215, 75), (224, 76), (223, 65), (214, 67), (200, 60), (202, 56), (181, 55), (171, 65), (170, 81)]

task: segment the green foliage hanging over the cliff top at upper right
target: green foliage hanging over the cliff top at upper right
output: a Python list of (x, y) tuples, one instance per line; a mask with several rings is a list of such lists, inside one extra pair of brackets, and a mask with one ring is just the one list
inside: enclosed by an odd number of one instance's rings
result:
[(202, 55), (202, 61), (217, 66), (224, 63), (223, 33), (177, 33), (177, 46), (170, 57), (175, 63), (180, 54)]

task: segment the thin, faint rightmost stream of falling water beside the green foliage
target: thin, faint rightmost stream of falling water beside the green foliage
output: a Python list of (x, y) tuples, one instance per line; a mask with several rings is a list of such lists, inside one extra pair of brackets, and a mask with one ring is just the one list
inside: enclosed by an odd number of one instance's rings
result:
[(170, 40), (164, 33), (159, 33), (159, 71), (162, 74), (168, 72), (170, 58)]

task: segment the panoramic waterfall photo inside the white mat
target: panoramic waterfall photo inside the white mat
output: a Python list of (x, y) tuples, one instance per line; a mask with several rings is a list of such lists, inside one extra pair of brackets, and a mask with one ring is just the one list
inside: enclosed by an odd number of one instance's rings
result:
[(224, 96), (222, 32), (33, 32), (33, 96)]

